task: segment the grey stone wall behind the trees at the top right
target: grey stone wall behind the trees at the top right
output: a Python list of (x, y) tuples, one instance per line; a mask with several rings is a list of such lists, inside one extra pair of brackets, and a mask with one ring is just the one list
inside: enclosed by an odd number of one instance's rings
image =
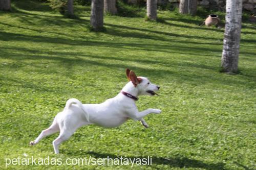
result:
[[(159, 0), (164, 1), (164, 0)], [(179, 0), (167, 0), (173, 4), (173, 6), (179, 6)], [(198, 5), (204, 6), (211, 10), (225, 11), (226, 0), (198, 0)], [(256, 12), (256, 0), (243, 0), (243, 10)]]

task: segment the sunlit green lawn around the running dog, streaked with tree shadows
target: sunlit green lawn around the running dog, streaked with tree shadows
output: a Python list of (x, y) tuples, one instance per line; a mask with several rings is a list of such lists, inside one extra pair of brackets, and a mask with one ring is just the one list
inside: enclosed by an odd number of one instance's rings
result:
[[(33, 4), (33, 6), (31, 6)], [(223, 30), (202, 18), (159, 11), (161, 22), (106, 16), (88, 29), (90, 7), (68, 19), (48, 4), (13, 1), (0, 12), (0, 167), (5, 158), (146, 158), (135, 169), (254, 169), (256, 31), (243, 23), (239, 75), (219, 72)], [(222, 14), (224, 16), (224, 14)], [(100, 103), (125, 85), (125, 68), (161, 86), (139, 110), (162, 109), (115, 129), (83, 127), (53, 154), (54, 134), (29, 147), (69, 98)], [(9, 166), (8, 169), (129, 169), (130, 166)]]

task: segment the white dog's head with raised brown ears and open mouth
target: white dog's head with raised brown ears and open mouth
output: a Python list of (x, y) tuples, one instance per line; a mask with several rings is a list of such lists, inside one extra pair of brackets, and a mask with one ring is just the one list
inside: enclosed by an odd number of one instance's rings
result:
[(147, 78), (137, 77), (135, 72), (129, 68), (126, 69), (126, 76), (133, 83), (134, 87), (138, 89), (139, 95), (155, 95), (157, 94), (155, 91), (160, 89), (159, 86), (152, 84)]

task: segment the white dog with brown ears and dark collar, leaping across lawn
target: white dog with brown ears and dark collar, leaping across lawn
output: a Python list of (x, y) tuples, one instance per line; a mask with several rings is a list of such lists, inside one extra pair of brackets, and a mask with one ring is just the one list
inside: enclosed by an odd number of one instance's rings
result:
[(138, 95), (155, 95), (159, 86), (152, 84), (145, 77), (137, 77), (134, 71), (126, 69), (126, 76), (130, 80), (121, 92), (112, 99), (101, 104), (82, 104), (77, 99), (69, 99), (62, 112), (59, 112), (52, 125), (41, 132), (31, 141), (35, 145), (42, 138), (60, 131), (59, 136), (53, 141), (55, 154), (59, 153), (58, 145), (69, 139), (70, 136), (81, 126), (95, 124), (101, 127), (114, 128), (122, 125), (128, 119), (140, 120), (144, 127), (148, 127), (144, 116), (150, 113), (160, 114), (159, 109), (146, 109), (139, 112), (135, 101)]

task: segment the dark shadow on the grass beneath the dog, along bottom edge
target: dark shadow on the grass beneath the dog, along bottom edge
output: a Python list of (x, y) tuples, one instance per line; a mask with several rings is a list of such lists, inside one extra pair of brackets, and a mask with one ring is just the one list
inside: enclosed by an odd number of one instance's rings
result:
[[(81, 154), (81, 153), (72, 153), (72, 155)], [(110, 154), (110, 153), (97, 153), (97, 152), (86, 152), (84, 154), (92, 155), (95, 158), (120, 158), (118, 155)], [(149, 156), (151, 157), (151, 156)], [(128, 158), (131, 160), (136, 159), (148, 159), (148, 156), (127, 156), (123, 158)], [(163, 158), (163, 157), (156, 157), (152, 156), (152, 165), (168, 165), (170, 167), (179, 167), (179, 168), (204, 168), (204, 169), (211, 169), (211, 170), (220, 170), (220, 169), (227, 169), (225, 168), (224, 163), (204, 163), (203, 161), (196, 160), (196, 159), (190, 159), (187, 157), (169, 157), (169, 158)], [(148, 166), (152, 166), (148, 165)]]

